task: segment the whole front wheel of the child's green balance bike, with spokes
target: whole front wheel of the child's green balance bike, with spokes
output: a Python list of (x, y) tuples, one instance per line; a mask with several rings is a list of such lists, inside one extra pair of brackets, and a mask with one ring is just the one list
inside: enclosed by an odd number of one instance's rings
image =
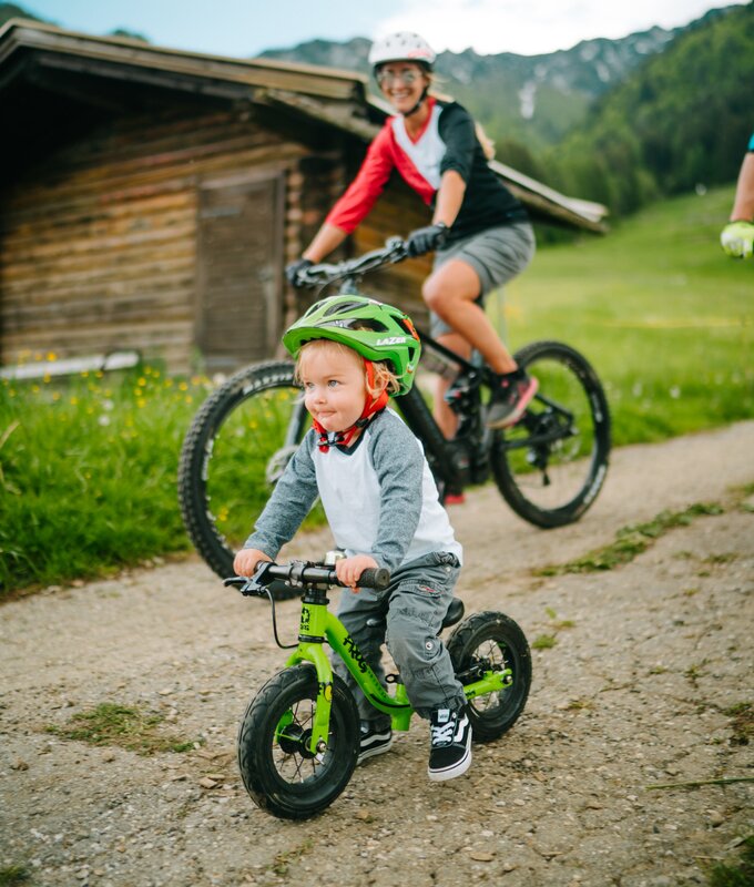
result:
[(306, 819), (328, 807), (350, 779), (359, 750), (358, 708), (337, 675), (327, 748), (309, 751), (317, 708), (317, 673), (295, 665), (272, 677), (238, 730), (238, 767), (246, 791), (267, 813)]

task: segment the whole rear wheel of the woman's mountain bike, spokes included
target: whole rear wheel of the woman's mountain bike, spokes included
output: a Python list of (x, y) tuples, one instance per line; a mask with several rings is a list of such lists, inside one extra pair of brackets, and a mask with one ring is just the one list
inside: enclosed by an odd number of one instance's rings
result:
[(516, 359), (539, 390), (516, 425), (493, 432), (495, 481), (519, 517), (562, 527), (587, 511), (604, 482), (608, 399), (589, 361), (568, 345), (534, 341)]

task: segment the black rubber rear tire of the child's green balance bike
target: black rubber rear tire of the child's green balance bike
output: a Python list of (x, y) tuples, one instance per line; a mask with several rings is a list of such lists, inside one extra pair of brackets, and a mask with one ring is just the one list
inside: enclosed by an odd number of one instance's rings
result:
[(469, 701), (467, 712), (477, 742), (492, 742), (507, 733), (520, 717), (531, 687), (531, 652), (523, 631), (510, 616), (490, 610), (463, 620), (448, 639), (456, 673), (470, 667), (475, 652), (487, 641), (505, 649), (513, 676), (498, 697), (500, 704), (493, 708), (482, 707), (487, 696)]

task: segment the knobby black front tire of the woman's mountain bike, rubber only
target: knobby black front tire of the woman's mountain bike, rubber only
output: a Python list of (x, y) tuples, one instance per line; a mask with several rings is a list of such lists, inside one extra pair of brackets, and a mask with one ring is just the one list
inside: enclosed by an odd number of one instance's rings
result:
[[(231, 376), (204, 401), (183, 440), (179, 461), (179, 502), (186, 532), (194, 548), (221, 579), (233, 575), (235, 552), (215, 526), (206, 496), (205, 460), (223, 422), (241, 404), (255, 394), (275, 387), (294, 387), (294, 365), (271, 360), (245, 367)], [(295, 597), (282, 583), (277, 598)]]

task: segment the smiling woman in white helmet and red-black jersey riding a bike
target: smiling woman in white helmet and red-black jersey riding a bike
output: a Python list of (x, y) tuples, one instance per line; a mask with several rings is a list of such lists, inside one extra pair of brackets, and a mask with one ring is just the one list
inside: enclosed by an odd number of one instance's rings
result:
[[(421, 37), (401, 31), (377, 40), (369, 62), (385, 98), (396, 111), (369, 146), (358, 175), (324, 225), (287, 273), (335, 249), (361, 222), (391, 171), (432, 207), (431, 225), (408, 237), (411, 255), (436, 249), (435, 267), (422, 296), (432, 312), (432, 334), (458, 354), (478, 350), (499, 375), (487, 422), (516, 422), (537, 391), (537, 380), (520, 369), (483, 312), (483, 297), (522, 271), (534, 251), (523, 206), (489, 169), (468, 112), (456, 102), (429, 95), (436, 54)], [(438, 383), (435, 416), (446, 436), (456, 417), (445, 402), (448, 380)]]

